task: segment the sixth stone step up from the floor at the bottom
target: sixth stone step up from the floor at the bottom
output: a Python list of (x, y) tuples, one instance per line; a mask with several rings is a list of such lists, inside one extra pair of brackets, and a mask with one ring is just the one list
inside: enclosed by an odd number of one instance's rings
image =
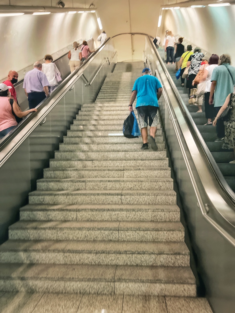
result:
[(173, 190), (172, 178), (42, 178), (37, 190)]

